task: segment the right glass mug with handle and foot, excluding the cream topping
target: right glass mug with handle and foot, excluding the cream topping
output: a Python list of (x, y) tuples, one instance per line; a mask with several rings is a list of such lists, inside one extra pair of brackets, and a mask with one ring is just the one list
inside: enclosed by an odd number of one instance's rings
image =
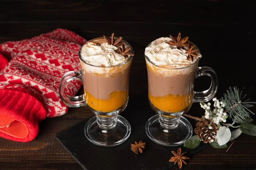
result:
[[(197, 46), (195, 48), (198, 49)], [(198, 53), (200, 54), (199, 50)], [(192, 103), (207, 102), (215, 96), (218, 88), (217, 75), (212, 68), (198, 67), (199, 57), (193, 64), (183, 68), (157, 66), (146, 55), (145, 60), (148, 72), (148, 100), (151, 108), (157, 113), (148, 119), (146, 133), (157, 144), (183, 144), (192, 136), (193, 129), (189, 121), (181, 115), (189, 111)], [(205, 75), (211, 78), (210, 88), (201, 92), (194, 91), (195, 78)]]

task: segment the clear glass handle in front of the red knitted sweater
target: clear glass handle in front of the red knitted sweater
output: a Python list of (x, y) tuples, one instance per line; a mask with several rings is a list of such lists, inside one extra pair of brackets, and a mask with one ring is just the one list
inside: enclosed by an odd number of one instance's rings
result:
[(80, 96), (67, 96), (65, 93), (65, 88), (68, 82), (72, 80), (79, 80), (83, 81), (82, 79), (82, 71), (69, 71), (61, 79), (60, 86), (59, 86), (59, 91), (60, 91), (60, 96), (62, 102), (64, 102), (65, 105), (71, 108), (78, 108), (80, 106), (84, 106), (84, 95)]

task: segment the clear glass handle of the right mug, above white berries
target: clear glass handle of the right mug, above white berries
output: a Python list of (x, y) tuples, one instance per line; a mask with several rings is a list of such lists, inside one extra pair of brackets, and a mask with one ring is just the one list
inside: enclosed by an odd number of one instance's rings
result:
[(206, 91), (194, 91), (194, 100), (193, 102), (207, 102), (212, 99), (218, 89), (218, 77), (215, 71), (210, 67), (198, 67), (195, 78), (201, 76), (211, 77), (211, 86)]

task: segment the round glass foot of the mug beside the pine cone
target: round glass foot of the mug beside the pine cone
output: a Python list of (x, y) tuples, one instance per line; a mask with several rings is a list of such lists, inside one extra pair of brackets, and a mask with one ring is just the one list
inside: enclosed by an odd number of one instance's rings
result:
[(148, 137), (153, 142), (164, 146), (183, 144), (193, 133), (192, 125), (183, 116), (180, 116), (179, 124), (176, 128), (165, 130), (161, 127), (159, 115), (157, 114), (148, 119), (145, 128)]

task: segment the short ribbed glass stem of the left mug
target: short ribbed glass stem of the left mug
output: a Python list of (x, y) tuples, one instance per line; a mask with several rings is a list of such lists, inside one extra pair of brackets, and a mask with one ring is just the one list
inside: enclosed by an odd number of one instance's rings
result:
[(111, 130), (116, 126), (117, 115), (111, 117), (97, 117), (97, 124), (101, 130)]

